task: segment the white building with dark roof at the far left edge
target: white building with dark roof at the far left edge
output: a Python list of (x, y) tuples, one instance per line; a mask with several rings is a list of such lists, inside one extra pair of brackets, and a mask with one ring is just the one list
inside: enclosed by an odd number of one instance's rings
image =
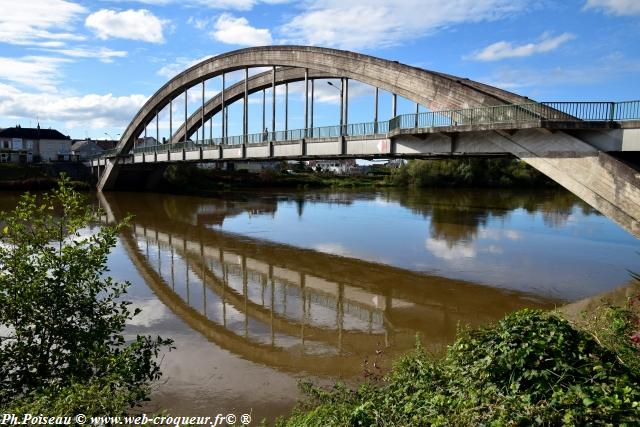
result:
[(71, 160), (71, 138), (55, 129), (16, 126), (0, 130), (0, 162)]

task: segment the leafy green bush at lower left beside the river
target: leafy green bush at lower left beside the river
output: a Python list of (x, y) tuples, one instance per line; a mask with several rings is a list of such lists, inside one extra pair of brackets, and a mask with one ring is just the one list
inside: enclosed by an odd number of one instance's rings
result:
[(159, 378), (156, 359), (171, 340), (125, 339), (138, 310), (122, 299), (129, 283), (105, 275), (125, 224), (90, 229), (98, 218), (64, 177), (51, 193), (27, 193), (13, 212), (2, 213), (1, 408), (82, 395), (83, 385), (105, 402), (110, 390), (133, 405)]

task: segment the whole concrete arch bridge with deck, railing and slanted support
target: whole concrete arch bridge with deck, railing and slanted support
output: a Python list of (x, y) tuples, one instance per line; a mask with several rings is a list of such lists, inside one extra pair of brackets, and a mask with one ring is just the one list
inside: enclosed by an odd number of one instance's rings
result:
[[(234, 72), (243, 78), (227, 87)], [(222, 90), (207, 99), (206, 84), (214, 78), (221, 80)], [(314, 82), (320, 79), (340, 81), (339, 87), (334, 84), (340, 92), (335, 126), (314, 126)], [(375, 90), (371, 122), (349, 121), (351, 81)], [(303, 82), (300, 129), (289, 128), (289, 85), (294, 82)], [(193, 95), (198, 87), (199, 106), (189, 114), (188, 91)], [(271, 131), (265, 116), (267, 89)], [(391, 94), (389, 120), (380, 120), (379, 91)], [(262, 131), (251, 134), (249, 95), (260, 92)], [(285, 99), (282, 129), (276, 128), (278, 93)], [(415, 113), (398, 115), (398, 96), (415, 103)], [(173, 103), (183, 98), (182, 124), (174, 129)], [(229, 108), (240, 102), (242, 132), (229, 135)], [(160, 115), (166, 108), (170, 136), (160, 144)], [(221, 129), (216, 138), (214, 121)], [(155, 144), (149, 146), (154, 133)], [(148, 187), (167, 165), (178, 162), (513, 155), (640, 236), (640, 175), (633, 165), (638, 151), (640, 101), (535, 102), (469, 79), (354, 52), (265, 46), (212, 57), (172, 78), (138, 111), (116, 148), (91, 165), (98, 189), (113, 190), (132, 183)]]

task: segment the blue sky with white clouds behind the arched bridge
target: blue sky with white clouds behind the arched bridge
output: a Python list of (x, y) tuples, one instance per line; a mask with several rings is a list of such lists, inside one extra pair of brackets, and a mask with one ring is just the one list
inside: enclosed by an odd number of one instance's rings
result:
[[(346, 49), (538, 101), (640, 99), (640, 0), (0, 0), (0, 6), (0, 127), (39, 123), (72, 138), (118, 138), (172, 76), (211, 56), (261, 45)], [(316, 126), (339, 122), (339, 90), (325, 83), (316, 82)], [(214, 95), (220, 79), (205, 87), (207, 97)], [(189, 91), (189, 113), (200, 91)], [(284, 129), (282, 92), (276, 90), (276, 130)], [(290, 93), (289, 129), (301, 128), (302, 84)], [(349, 122), (373, 120), (373, 93), (350, 85)], [(249, 100), (250, 132), (262, 127), (261, 97)], [(391, 115), (390, 99), (381, 95), (381, 120)], [(230, 107), (229, 135), (241, 133), (237, 104)], [(183, 99), (173, 108), (177, 129)], [(414, 111), (415, 104), (399, 102), (398, 113)], [(159, 126), (168, 137), (167, 108)], [(205, 137), (219, 136), (219, 118), (205, 128)], [(148, 131), (155, 136), (155, 125)]]

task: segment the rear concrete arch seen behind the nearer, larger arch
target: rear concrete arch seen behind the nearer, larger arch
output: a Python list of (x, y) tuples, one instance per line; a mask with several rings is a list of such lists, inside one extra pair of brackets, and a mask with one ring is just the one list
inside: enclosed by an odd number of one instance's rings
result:
[[(295, 67), (280, 67), (276, 68), (276, 86), (285, 83), (295, 83), (304, 80), (305, 70), (303, 68)], [(309, 70), (309, 79), (331, 78), (332, 76), (327, 73), (319, 72), (316, 70)], [(268, 89), (273, 83), (273, 72), (265, 71), (260, 74), (249, 77), (247, 81), (247, 92), (251, 95), (256, 92), (260, 92), (263, 89)], [(244, 97), (244, 80), (229, 86), (224, 91), (225, 105), (233, 104)], [(222, 95), (219, 93), (213, 98), (209, 99), (204, 105), (204, 120), (209, 120), (212, 116), (220, 112), (222, 105)], [(187, 119), (187, 137), (193, 135), (193, 133), (202, 126), (202, 107), (193, 112)], [(171, 135), (171, 143), (180, 142), (184, 140), (185, 127), (182, 124), (178, 130)]]

